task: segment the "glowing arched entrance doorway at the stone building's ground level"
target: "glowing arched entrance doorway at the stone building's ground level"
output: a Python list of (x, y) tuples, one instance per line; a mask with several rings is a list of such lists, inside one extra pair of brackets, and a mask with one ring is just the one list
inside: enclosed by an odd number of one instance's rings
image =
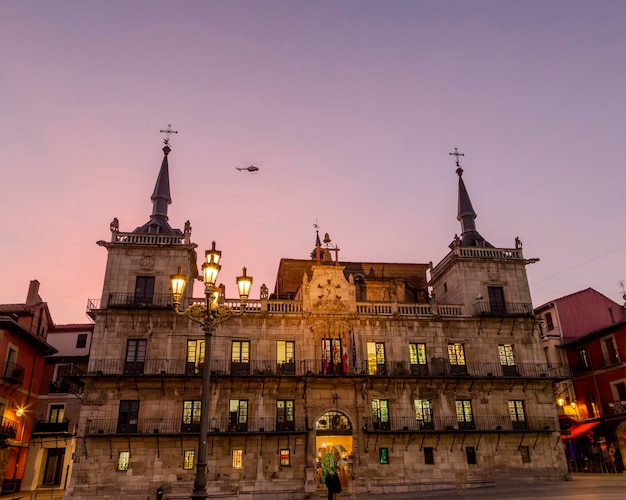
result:
[(326, 488), (325, 478), (335, 469), (346, 490), (352, 477), (352, 426), (338, 411), (327, 411), (315, 422), (317, 487)]

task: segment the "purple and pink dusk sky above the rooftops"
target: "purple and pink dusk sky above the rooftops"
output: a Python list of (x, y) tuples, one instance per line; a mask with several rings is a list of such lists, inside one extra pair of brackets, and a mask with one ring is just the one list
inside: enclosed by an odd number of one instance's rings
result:
[(535, 306), (622, 303), (625, 26), (623, 0), (5, 0), (0, 303), (37, 279), (87, 322), (170, 123), (170, 223), (216, 240), (229, 297), (243, 265), (273, 290), (316, 221), (342, 260), (439, 262), (457, 147), (479, 232), (541, 259)]

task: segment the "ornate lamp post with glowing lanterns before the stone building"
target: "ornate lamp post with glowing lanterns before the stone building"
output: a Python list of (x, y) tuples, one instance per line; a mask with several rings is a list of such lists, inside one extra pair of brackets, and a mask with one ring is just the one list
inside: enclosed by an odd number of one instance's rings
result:
[(187, 286), (187, 276), (183, 274), (182, 267), (176, 274), (170, 276), (174, 312), (178, 316), (184, 316), (202, 325), (204, 330), (204, 365), (202, 366), (202, 396), (200, 401), (200, 430), (198, 435), (198, 458), (196, 460), (196, 477), (193, 483), (192, 499), (207, 498), (206, 472), (207, 472), (207, 434), (209, 431), (209, 398), (211, 388), (211, 337), (218, 325), (235, 316), (241, 316), (245, 311), (245, 301), (250, 295), (252, 277), (243, 274), (237, 277), (239, 288), (240, 307), (233, 309), (219, 302), (220, 289), (215, 286), (217, 275), (222, 266), (219, 261), (222, 252), (215, 249), (213, 242), (211, 250), (205, 251), (205, 262), (202, 264), (202, 280), (204, 281), (204, 304), (191, 304), (184, 310), (180, 310), (180, 303)]

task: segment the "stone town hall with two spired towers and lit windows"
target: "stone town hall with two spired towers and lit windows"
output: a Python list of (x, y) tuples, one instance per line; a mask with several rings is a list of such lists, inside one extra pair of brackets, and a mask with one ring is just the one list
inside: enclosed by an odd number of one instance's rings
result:
[[(163, 151), (150, 220), (128, 232), (114, 220), (98, 242), (108, 260), (69, 497), (193, 489), (204, 336), (173, 314), (169, 278), (178, 266), (196, 278), (197, 255), (190, 224), (168, 221)], [(532, 261), (519, 240), (478, 233), (457, 167), (461, 234), (441, 262), (340, 262), (318, 237), (310, 258), (281, 259), (273, 293), (218, 327), (210, 496), (321, 496), (331, 466), (345, 496), (566, 477), (553, 385), (568, 372), (546, 363)]]

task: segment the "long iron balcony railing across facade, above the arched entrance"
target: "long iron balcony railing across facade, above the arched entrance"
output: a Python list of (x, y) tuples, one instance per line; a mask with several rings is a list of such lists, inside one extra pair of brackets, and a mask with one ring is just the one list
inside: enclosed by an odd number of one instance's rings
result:
[[(88, 375), (176, 375), (200, 376), (203, 363), (188, 362), (184, 359), (146, 359), (126, 361), (124, 359), (92, 359)], [(565, 380), (571, 377), (568, 365), (550, 363), (520, 363), (501, 365), (500, 363), (470, 362), (464, 365), (450, 364), (445, 360), (434, 360), (429, 364), (410, 364), (407, 361), (390, 361), (384, 364), (368, 364), (367, 361), (345, 361), (334, 364), (322, 360), (296, 360), (279, 362), (275, 360), (251, 360), (235, 362), (223, 359), (211, 360), (211, 373), (214, 375), (246, 376), (367, 376), (367, 377), (474, 377), (474, 378), (541, 378)]]

